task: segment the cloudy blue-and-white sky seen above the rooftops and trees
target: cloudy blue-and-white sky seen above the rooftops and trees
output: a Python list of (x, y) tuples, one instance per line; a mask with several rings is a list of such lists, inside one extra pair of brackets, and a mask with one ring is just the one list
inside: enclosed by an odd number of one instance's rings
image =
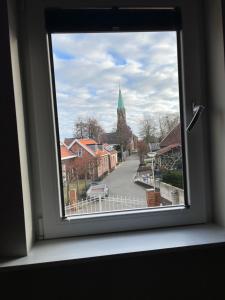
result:
[(53, 34), (60, 139), (78, 118), (116, 127), (119, 84), (127, 123), (179, 111), (176, 33)]

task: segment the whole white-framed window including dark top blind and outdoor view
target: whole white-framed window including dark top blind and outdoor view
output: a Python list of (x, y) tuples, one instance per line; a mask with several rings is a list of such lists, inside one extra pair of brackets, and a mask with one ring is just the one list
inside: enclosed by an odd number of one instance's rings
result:
[[(194, 99), (202, 103), (199, 3), (163, 2), (39, 16), (51, 70), (47, 151), (57, 158), (45, 168), (54, 191), (42, 189), (46, 237), (206, 220), (202, 123), (186, 132)], [(60, 143), (76, 154), (64, 185)]]

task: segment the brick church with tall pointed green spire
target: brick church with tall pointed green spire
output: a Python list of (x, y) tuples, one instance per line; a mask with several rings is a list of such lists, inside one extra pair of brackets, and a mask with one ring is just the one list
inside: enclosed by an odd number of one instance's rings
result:
[(131, 128), (127, 125), (126, 109), (119, 88), (117, 104), (117, 128), (115, 132), (104, 133), (101, 136), (102, 143), (113, 145), (120, 153), (120, 159), (124, 160), (127, 155), (137, 151), (138, 138), (132, 133)]

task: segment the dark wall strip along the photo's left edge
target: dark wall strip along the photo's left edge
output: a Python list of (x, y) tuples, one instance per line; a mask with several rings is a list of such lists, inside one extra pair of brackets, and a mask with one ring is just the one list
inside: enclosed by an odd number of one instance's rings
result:
[(27, 247), (6, 0), (0, 1), (0, 37), (0, 256), (19, 256)]

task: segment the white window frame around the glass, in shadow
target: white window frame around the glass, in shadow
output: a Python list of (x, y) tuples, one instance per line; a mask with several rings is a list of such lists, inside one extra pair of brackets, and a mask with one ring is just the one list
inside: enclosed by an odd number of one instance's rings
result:
[[(79, 8), (79, 1), (25, 1), (23, 55), (26, 57), (25, 73), (28, 96), (32, 191), (35, 202), (35, 220), (43, 220), (44, 238), (88, 235), (125, 230), (138, 230), (178, 225), (205, 223), (209, 220), (207, 186), (207, 155), (205, 151), (204, 118), (190, 135), (185, 135), (188, 197), (190, 207), (171, 207), (101, 213), (96, 215), (61, 217), (59, 176), (56, 150), (56, 126), (53, 117), (53, 92), (49, 64), (48, 44), (44, 24), (44, 10), (49, 7)], [(97, 3), (98, 1), (96, 1)], [(107, 3), (108, 7), (113, 6)], [(137, 1), (146, 7), (145, 1)], [(180, 7), (183, 30), (181, 39), (184, 124), (192, 118), (192, 103), (205, 104), (202, 55), (201, 1), (150, 0), (151, 7)], [(82, 1), (82, 8), (91, 1)], [(105, 6), (105, 5), (104, 5)], [(191, 20), (191, 22), (190, 22)], [(196, 167), (197, 166), (197, 167)], [(37, 221), (38, 223), (38, 221)], [(39, 222), (40, 223), (40, 222)]]

